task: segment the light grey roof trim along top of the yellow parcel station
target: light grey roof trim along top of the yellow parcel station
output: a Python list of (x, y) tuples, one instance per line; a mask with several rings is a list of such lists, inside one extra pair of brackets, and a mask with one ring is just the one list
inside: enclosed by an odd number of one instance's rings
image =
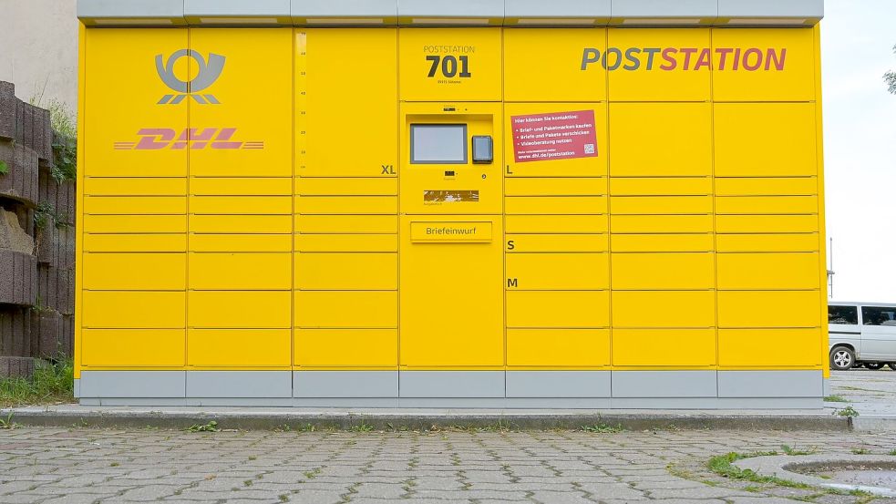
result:
[(104, 26), (811, 26), (824, 0), (77, 0), (77, 16)]

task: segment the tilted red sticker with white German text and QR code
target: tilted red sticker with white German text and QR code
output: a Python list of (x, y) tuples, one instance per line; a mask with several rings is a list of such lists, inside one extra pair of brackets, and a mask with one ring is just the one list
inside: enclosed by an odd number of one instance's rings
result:
[(597, 156), (593, 110), (511, 116), (516, 162)]

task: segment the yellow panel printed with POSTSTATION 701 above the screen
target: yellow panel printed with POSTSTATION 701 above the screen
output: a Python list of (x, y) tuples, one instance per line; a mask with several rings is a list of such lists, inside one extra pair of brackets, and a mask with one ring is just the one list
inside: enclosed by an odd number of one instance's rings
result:
[(498, 101), (501, 56), (499, 28), (399, 28), (401, 99)]

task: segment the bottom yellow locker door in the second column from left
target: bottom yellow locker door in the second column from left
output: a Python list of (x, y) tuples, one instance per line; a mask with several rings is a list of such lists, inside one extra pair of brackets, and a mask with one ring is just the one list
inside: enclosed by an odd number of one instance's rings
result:
[(292, 365), (292, 329), (187, 329), (191, 367), (276, 367)]

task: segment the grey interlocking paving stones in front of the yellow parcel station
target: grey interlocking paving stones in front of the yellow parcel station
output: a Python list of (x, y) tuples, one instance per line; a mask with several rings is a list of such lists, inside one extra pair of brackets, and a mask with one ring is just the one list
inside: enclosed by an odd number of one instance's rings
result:
[[(890, 434), (676, 431), (0, 430), (0, 502), (867, 502), (726, 479), (726, 452), (854, 449)], [(875, 499), (874, 502), (886, 502)]]

